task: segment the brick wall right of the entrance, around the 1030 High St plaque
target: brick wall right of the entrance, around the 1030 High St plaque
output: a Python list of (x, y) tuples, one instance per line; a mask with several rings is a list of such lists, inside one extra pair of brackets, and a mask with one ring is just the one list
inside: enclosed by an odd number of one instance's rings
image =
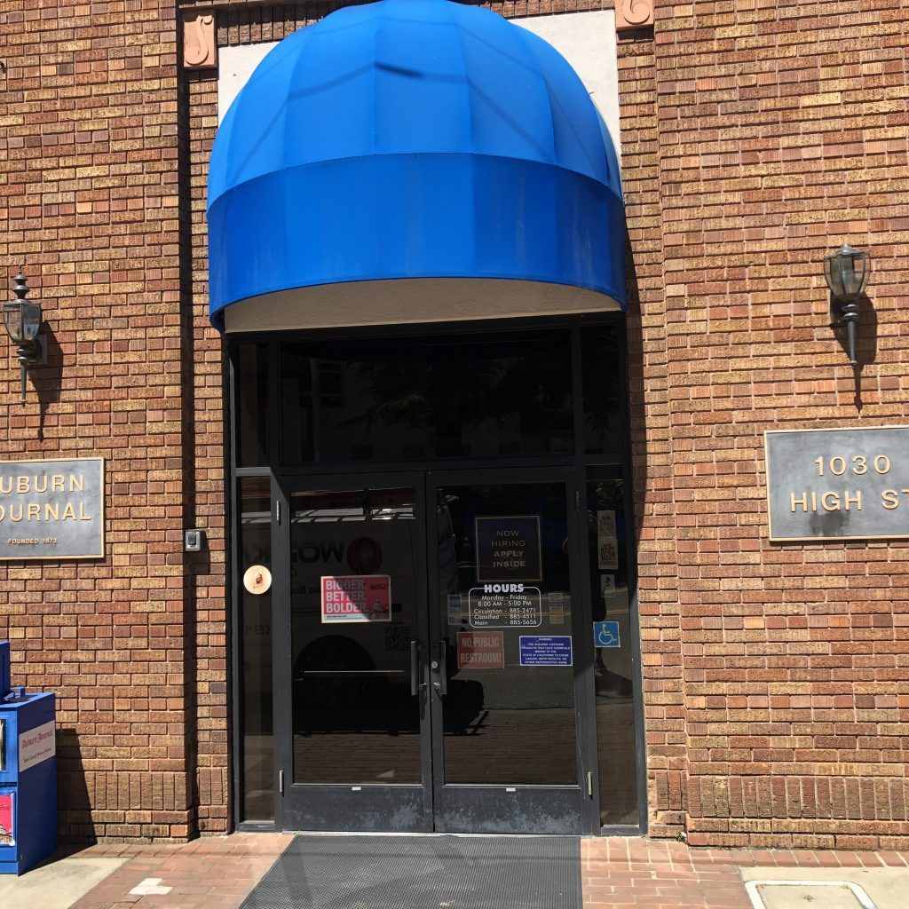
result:
[[(620, 48), (652, 823), (692, 843), (909, 841), (909, 544), (768, 544), (762, 439), (906, 423), (907, 21), (658, 4), (651, 55)], [(874, 256), (859, 386), (822, 275), (844, 240)]]

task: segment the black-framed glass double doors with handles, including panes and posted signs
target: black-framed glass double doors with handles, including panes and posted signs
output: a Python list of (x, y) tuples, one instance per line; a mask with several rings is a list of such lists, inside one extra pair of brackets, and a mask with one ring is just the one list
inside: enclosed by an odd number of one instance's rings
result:
[(282, 487), (279, 824), (584, 832), (574, 474)]

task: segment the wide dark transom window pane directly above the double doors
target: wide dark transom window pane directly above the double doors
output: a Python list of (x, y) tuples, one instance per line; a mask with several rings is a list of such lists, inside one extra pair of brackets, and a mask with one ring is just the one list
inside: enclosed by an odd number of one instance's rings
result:
[(285, 464), (574, 450), (564, 330), (286, 344), (281, 389)]

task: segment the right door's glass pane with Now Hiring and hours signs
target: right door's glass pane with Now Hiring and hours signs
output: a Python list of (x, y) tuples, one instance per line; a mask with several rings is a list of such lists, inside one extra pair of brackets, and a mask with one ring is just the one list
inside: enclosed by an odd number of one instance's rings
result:
[(577, 784), (564, 484), (445, 486), (436, 514), (445, 783)]

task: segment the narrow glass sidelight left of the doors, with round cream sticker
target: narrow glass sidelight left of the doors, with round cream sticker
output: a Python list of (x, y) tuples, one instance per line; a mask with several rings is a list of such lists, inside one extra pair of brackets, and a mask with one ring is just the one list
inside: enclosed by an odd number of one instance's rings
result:
[[(243, 820), (275, 819), (272, 714), (272, 519), (267, 477), (239, 482)], [(263, 570), (264, 569), (264, 570)]]

